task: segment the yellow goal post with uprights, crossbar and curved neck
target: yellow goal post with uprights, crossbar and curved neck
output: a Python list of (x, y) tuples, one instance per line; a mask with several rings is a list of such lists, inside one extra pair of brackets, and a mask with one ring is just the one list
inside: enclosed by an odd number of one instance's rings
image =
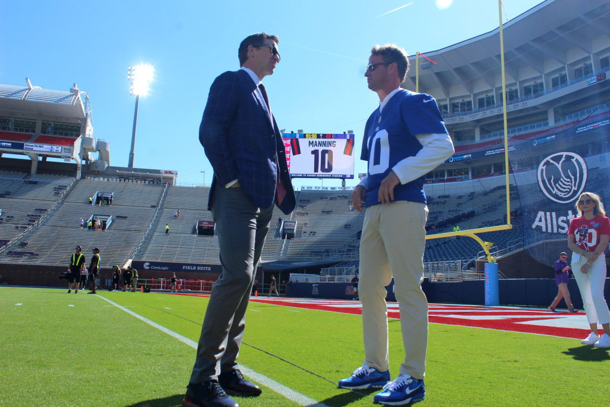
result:
[[(510, 190), (510, 182), (509, 182), (509, 162), (508, 162), (508, 120), (506, 118), (506, 74), (504, 72), (504, 34), (502, 31), (502, 3), (501, 0), (498, 0), (498, 14), (500, 16), (500, 65), (502, 71), (502, 104), (503, 104), (503, 116), (504, 116), (504, 176), (506, 177), (506, 225), (497, 225), (497, 226), (489, 226), (487, 228), (476, 228), (476, 229), (468, 229), (464, 231), (455, 231), (455, 232), (445, 232), (439, 234), (432, 234), (426, 236), (426, 240), (428, 239), (440, 239), (442, 237), (451, 237), (451, 236), (465, 236), (471, 237), (475, 239), (476, 242), (483, 247), (485, 254), (487, 255), (487, 262), (495, 263), (496, 259), (489, 252), (489, 248), (483, 242), (483, 240), (476, 236), (476, 233), (484, 233), (484, 232), (495, 232), (502, 230), (512, 229), (511, 225), (511, 190)], [(415, 53), (415, 92), (419, 92), (419, 52)]]

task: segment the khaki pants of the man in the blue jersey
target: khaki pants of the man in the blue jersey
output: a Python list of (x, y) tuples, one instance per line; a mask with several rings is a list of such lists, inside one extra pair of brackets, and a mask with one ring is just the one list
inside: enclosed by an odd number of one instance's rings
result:
[(365, 363), (389, 370), (386, 286), (394, 276), (405, 357), (400, 373), (423, 379), (428, 345), (428, 300), (422, 291), (428, 207), (395, 201), (367, 207), (360, 243)]

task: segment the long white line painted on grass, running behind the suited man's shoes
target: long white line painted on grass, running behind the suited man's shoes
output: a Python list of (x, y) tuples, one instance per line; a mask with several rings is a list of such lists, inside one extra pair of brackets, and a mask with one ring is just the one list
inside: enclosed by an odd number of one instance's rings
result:
[[(110, 301), (108, 298), (104, 298), (101, 295), (97, 295), (97, 294), (96, 294), (96, 297), (99, 297), (99, 298), (102, 298), (103, 300), (108, 301), (110, 304), (113, 304), (113, 306), (117, 307), (118, 309), (121, 309), (122, 311), (127, 312), (127, 314), (130, 314), (130, 315), (136, 317), (137, 319), (141, 320), (142, 322), (148, 323), (148, 325), (152, 326), (153, 328), (157, 328), (157, 330), (162, 331), (163, 333), (166, 333), (169, 336), (178, 339), (180, 342), (192, 347), (193, 349), (195, 349), (195, 350), (197, 349), (198, 344), (194, 340), (188, 339), (187, 337), (182, 336), (181, 334), (179, 334), (177, 332), (169, 330), (168, 328), (165, 328), (165, 326), (159, 325), (158, 323), (151, 321), (148, 318), (143, 317), (140, 314), (136, 314), (134, 311), (131, 311), (131, 309), (127, 309), (126, 307), (121, 306), (121, 305), (115, 303), (114, 301)], [(253, 380), (259, 382), (260, 384), (263, 384), (264, 386), (269, 387), (271, 390), (278, 393), (279, 395), (282, 395), (285, 398), (288, 398), (289, 400), (291, 400), (295, 403), (298, 403), (299, 405), (301, 405), (303, 407), (328, 407), (324, 403), (318, 403), (317, 400), (314, 400), (313, 398), (307, 397), (304, 394), (296, 392), (296, 391), (290, 389), (290, 387), (286, 387), (286, 386), (284, 386), (284, 384), (278, 383), (277, 381), (275, 381), (271, 378), (268, 378), (265, 375), (254, 372), (254, 370), (248, 369), (247, 367), (243, 366), (242, 364), (239, 365), (239, 369), (242, 370), (242, 372), (245, 373), (246, 376), (253, 378)]]

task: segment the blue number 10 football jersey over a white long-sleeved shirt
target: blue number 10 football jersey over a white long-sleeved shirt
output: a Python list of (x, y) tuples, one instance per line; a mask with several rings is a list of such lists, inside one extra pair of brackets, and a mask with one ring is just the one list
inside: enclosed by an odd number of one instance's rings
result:
[[(364, 128), (361, 159), (368, 161), (367, 206), (379, 202), (379, 185), (392, 167), (415, 156), (422, 145), (415, 134), (447, 134), (436, 100), (425, 93), (401, 89), (390, 98), (383, 111), (370, 115)], [(426, 203), (423, 191), (425, 176), (394, 187), (395, 201)]]

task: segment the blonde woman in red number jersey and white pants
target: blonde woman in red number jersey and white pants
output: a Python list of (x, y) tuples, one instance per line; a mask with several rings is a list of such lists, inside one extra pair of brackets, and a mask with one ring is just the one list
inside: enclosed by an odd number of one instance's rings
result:
[[(568, 230), (568, 247), (572, 253), (572, 270), (581, 297), (591, 333), (581, 340), (583, 345), (610, 348), (610, 311), (604, 299), (606, 282), (605, 248), (610, 240), (610, 220), (601, 207), (600, 197), (583, 192), (576, 201), (579, 217), (572, 219)], [(598, 335), (601, 323), (603, 336)]]

